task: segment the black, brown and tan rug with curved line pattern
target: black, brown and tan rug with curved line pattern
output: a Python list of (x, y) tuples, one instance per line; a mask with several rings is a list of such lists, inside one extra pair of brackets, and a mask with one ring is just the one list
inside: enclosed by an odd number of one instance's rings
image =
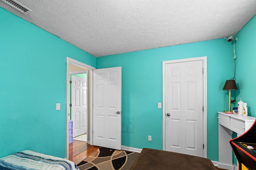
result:
[(80, 170), (130, 170), (137, 152), (100, 147), (77, 166)]

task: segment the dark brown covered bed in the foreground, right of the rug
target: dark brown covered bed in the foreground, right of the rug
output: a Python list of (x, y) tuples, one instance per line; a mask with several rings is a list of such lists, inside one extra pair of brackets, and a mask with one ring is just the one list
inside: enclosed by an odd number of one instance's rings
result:
[(144, 148), (131, 170), (216, 170), (216, 168), (207, 158)]

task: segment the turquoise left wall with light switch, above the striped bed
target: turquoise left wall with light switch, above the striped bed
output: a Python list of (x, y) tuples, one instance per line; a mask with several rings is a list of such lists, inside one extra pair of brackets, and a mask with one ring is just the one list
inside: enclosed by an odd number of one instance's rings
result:
[(96, 67), (94, 56), (0, 8), (0, 157), (66, 157), (66, 57)]

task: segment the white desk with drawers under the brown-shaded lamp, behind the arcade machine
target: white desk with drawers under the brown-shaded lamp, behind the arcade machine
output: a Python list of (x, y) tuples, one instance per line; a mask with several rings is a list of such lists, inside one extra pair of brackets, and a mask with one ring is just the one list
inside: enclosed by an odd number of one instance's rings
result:
[(232, 148), (229, 144), (232, 133), (240, 136), (246, 132), (254, 123), (256, 117), (227, 114), (218, 112), (219, 127), (219, 163), (218, 168), (234, 170), (232, 164)]

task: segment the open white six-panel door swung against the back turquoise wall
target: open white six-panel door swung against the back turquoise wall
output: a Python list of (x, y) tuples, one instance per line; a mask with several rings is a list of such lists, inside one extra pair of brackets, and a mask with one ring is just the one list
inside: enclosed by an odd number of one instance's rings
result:
[(93, 70), (93, 145), (121, 149), (122, 68)]

